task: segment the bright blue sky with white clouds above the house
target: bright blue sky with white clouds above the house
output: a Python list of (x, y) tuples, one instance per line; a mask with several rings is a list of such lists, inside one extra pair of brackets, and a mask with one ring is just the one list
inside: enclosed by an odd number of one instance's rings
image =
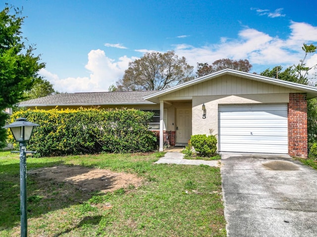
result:
[[(174, 50), (195, 66), (248, 59), (251, 72), (287, 67), (317, 44), (317, 1), (0, 0), (23, 6), (22, 28), (59, 92), (107, 91), (128, 63)], [(317, 53), (307, 64), (317, 64)]]

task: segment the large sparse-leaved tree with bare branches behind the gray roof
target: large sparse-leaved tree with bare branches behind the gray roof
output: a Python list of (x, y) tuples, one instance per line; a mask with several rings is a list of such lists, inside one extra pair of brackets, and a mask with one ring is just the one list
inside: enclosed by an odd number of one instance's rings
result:
[(117, 90), (163, 90), (194, 79), (193, 68), (174, 51), (146, 53), (129, 63), (123, 78), (116, 82)]

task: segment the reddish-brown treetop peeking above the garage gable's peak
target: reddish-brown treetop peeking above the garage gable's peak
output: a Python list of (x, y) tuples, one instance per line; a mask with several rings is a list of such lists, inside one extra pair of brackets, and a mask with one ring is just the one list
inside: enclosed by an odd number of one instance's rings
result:
[(197, 63), (196, 74), (197, 77), (203, 77), (227, 68), (248, 73), (251, 70), (252, 65), (247, 59), (240, 59), (237, 61), (229, 58), (223, 58), (214, 61), (211, 65), (209, 65), (208, 63)]

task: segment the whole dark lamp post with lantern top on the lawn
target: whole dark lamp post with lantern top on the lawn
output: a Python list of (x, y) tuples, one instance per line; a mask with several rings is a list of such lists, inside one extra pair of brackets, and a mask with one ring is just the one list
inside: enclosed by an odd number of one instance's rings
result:
[(10, 128), (14, 139), (20, 147), (20, 209), (21, 209), (21, 237), (27, 236), (27, 206), (26, 206), (26, 141), (30, 140), (33, 128), (39, 124), (29, 122), (26, 118), (18, 118), (15, 122), (2, 128)]

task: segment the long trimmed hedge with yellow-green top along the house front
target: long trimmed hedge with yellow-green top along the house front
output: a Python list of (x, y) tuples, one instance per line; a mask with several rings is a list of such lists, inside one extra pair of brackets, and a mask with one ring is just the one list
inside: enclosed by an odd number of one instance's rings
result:
[[(11, 116), (40, 124), (27, 144), (39, 156), (150, 152), (156, 136), (148, 130), (152, 112), (122, 110), (28, 110)], [(13, 136), (9, 135), (13, 143)]]

